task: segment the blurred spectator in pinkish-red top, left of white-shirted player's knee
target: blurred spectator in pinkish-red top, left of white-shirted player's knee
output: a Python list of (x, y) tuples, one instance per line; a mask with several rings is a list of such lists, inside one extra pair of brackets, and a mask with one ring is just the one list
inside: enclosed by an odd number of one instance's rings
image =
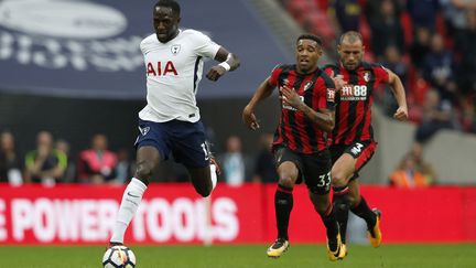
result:
[(77, 172), (82, 183), (104, 183), (116, 178), (116, 153), (107, 149), (108, 140), (105, 135), (93, 137), (91, 148), (79, 153)]

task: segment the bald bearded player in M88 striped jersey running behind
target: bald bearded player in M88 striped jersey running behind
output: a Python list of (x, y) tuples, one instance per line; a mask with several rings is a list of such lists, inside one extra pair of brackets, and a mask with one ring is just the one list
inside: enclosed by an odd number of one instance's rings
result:
[(360, 33), (346, 32), (337, 46), (339, 63), (324, 67), (327, 74), (344, 81), (344, 85), (337, 86), (336, 125), (329, 137), (329, 150), (333, 160), (333, 203), (346, 254), (349, 210), (366, 221), (370, 244), (378, 247), (381, 243), (381, 213), (377, 208), (369, 208), (356, 180), (358, 171), (370, 160), (377, 147), (371, 126), (374, 89), (382, 83), (390, 85), (399, 105), (393, 117), (398, 120), (408, 118), (405, 93), (400, 78), (381, 65), (364, 62), (364, 49)]

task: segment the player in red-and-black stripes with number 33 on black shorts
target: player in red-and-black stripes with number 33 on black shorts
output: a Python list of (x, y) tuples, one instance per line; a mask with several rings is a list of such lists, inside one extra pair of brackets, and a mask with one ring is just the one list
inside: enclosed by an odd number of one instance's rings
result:
[(340, 253), (338, 225), (329, 199), (331, 154), (326, 136), (334, 128), (333, 79), (317, 66), (322, 40), (304, 34), (298, 37), (296, 63), (278, 65), (258, 87), (245, 107), (242, 119), (250, 129), (258, 129), (255, 108), (280, 90), (281, 117), (274, 132), (273, 153), (279, 174), (274, 195), (278, 239), (268, 248), (269, 257), (278, 258), (289, 248), (288, 226), (293, 207), (293, 187), (305, 182), (315, 211), (327, 229), (327, 256), (336, 260)]

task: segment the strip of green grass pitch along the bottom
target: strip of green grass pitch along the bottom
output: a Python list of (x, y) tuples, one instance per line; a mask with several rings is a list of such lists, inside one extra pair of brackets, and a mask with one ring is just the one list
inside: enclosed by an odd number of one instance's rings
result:
[[(331, 262), (325, 245), (291, 245), (284, 256), (266, 256), (267, 245), (132, 246), (139, 268), (259, 268), (259, 267), (476, 267), (476, 244), (382, 245), (380, 248), (349, 245), (343, 261)], [(100, 268), (105, 247), (7, 247), (0, 246), (0, 267)]]

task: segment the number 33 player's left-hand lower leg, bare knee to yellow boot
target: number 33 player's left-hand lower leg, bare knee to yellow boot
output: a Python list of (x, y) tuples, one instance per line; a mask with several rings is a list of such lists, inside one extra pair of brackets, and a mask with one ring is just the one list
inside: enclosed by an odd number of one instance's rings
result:
[(299, 170), (293, 162), (285, 161), (278, 167), (278, 189), (274, 194), (278, 238), (267, 250), (267, 255), (272, 258), (281, 257), (290, 246), (288, 226), (293, 207), (292, 191), (298, 180)]

